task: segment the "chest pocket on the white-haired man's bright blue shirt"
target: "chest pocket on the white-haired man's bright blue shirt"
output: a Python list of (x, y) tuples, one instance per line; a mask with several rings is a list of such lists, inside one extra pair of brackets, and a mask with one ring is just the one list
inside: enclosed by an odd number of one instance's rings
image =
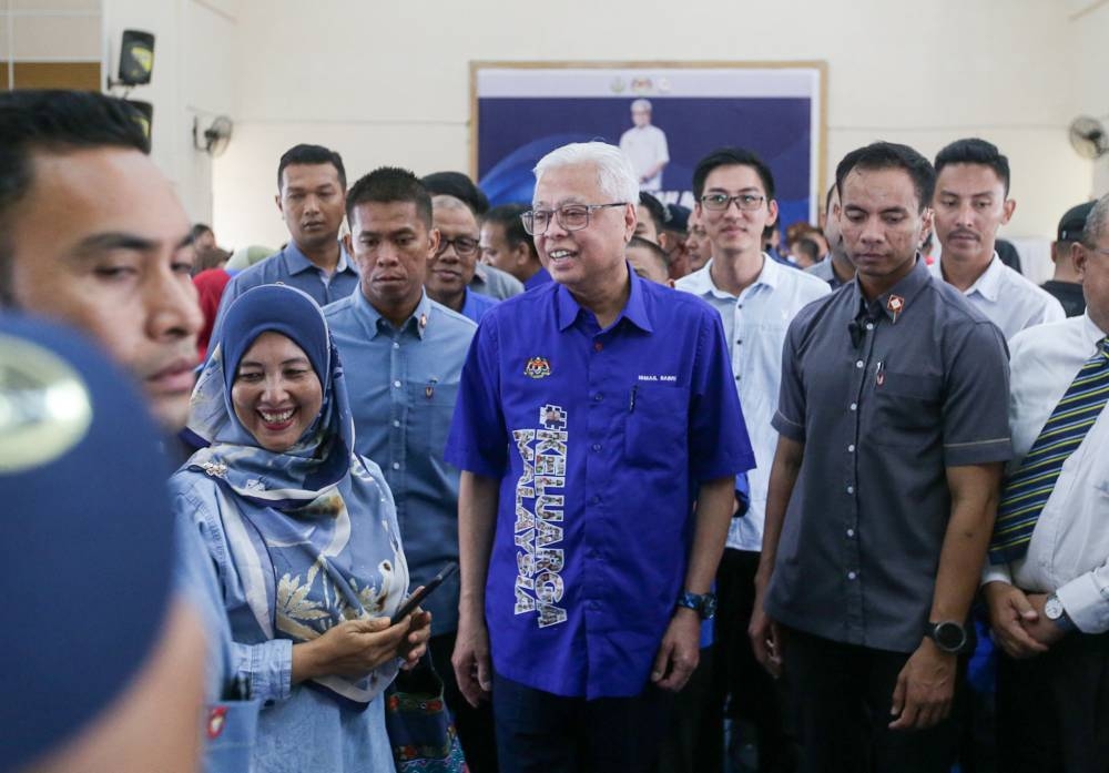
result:
[(628, 401), (624, 457), (640, 467), (669, 468), (686, 457), (689, 391), (674, 384), (637, 384)]

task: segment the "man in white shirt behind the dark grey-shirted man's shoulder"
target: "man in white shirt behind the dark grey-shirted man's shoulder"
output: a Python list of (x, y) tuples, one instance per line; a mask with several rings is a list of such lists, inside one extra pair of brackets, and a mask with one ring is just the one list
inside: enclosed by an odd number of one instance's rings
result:
[(963, 292), (1009, 339), (1020, 330), (1066, 317), (1062, 306), (995, 251), (997, 230), (1017, 203), (1009, 199), (1009, 160), (985, 140), (956, 140), (936, 155), (933, 199), (943, 247), (934, 276)]

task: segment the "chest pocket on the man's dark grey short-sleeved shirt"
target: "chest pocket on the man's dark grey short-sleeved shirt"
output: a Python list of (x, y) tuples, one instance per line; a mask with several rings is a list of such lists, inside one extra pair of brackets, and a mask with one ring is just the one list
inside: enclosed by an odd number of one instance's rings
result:
[(878, 378), (868, 440), (881, 446), (920, 446), (939, 434), (943, 379), (896, 370), (883, 370)]

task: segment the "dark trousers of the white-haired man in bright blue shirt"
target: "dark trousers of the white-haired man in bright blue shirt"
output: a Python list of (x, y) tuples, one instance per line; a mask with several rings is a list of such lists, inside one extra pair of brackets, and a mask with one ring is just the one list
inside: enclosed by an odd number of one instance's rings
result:
[(670, 726), (673, 693), (563, 698), (494, 674), (497, 756), (503, 773), (649, 773)]

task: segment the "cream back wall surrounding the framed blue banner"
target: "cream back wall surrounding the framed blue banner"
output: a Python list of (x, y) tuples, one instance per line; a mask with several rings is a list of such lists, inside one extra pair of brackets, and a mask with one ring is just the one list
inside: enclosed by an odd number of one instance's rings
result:
[(1065, 3), (316, 0), (307, 12), (294, 0), (236, 4), (236, 134), (213, 174), (223, 244), (284, 241), (274, 174), (297, 142), (339, 151), (352, 179), (384, 163), (467, 170), (470, 60), (823, 59), (830, 177), (845, 152), (875, 139), (932, 155), (981, 135), (1013, 163), (1010, 236), (1051, 235), (1090, 189), (1091, 164), (1066, 136), (1080, 105), (1066, 87), (1081, 24)]

